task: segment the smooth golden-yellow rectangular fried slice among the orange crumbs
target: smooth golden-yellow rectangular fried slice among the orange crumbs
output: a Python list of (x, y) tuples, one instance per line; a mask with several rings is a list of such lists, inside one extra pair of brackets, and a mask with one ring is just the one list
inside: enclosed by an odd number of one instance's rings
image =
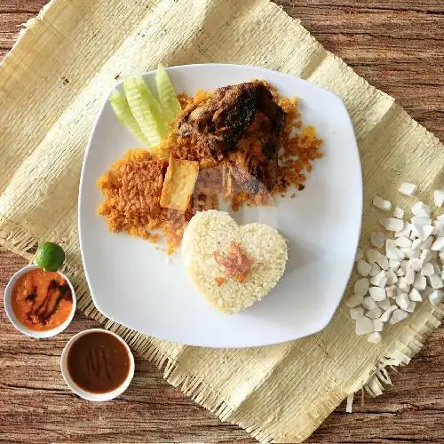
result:
[(199, 163), (170, 156), (163, 181), (161, 207), (185, 211), (193, 194)]

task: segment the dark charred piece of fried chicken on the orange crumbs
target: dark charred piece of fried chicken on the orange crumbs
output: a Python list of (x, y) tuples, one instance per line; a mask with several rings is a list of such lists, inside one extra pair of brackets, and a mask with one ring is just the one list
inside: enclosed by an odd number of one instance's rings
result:
[(240, 83), (187, 108), (178, 119), (178, 134), (208, 146), (215, 159), (226, 159), (234, 180), (257, 194), (260, 184), (271, 191), (276, 183), (284, 120), (264, 83)]

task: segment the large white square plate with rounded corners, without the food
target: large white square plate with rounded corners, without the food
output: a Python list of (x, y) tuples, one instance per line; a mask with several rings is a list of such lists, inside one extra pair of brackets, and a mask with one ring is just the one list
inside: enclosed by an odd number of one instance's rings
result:
[[(277, 198), (275, 208), (234, 212), (239, 223), (276, 227), (289, 242), (281, 282), (242, 313), (218, 313), (207, 304), (178, 251), (167, 264), (155, 244), (107, 231), (97, 216), (103, 196), (96, 180), (138, 143), (105, 103), (86, 150), (79, 192), (83, 266), (94, 304), (108, 318), (154, 337), (186, 345), (250, 347), (305, 337), (323, 329), (349, 279), (361, 230), (361, 163), (353, 125), (333, 93), (290, 75), (258, 67), (188, 65), (168, 72), (178, 92), (214, 90), (252, 78), (265, 79), (281, 95), (299, 98), (302, 119), (324, 140), (305, 190)], [(155, 89), (155, 72), (145, 79)]]

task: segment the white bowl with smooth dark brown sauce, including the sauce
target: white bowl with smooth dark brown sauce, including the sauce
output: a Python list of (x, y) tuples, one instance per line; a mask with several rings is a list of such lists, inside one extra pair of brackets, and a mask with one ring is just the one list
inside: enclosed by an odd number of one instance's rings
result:
[(89, 329), (67, 342), (60, 367), (67, 386), (84, 400), (112, 400), (131, 384), (134, 357), (122, 337)]

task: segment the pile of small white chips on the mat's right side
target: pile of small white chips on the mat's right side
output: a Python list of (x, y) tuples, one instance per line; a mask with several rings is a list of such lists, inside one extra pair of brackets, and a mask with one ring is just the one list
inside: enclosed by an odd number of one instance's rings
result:
[[(400, 186), (401, 194), (415, 192), (414, 184)], [(444, 190), (436, 190), (433, 201), (440, 208)], [(375, 197), (373, 205), (385, 212), (392, 210), (392, 202), (381, 197)], [(405, 320), (417, 304), (428, 299), (438, 305), (444, 297), (444, 214), (432, 220), (432, 210), (424, 202), (415, 202), (411, 211), (409, 221), (403, 219), (404, 210), (399, 207), (392, 217), (381, 218), (385, 231), (371, 233), (373, 248), (358, 249), (356, 255), (361, 278), (345, 304), (356, 322), (356, 334), (369, 335), (370, 343), (379, 343), (385, 324)]]

